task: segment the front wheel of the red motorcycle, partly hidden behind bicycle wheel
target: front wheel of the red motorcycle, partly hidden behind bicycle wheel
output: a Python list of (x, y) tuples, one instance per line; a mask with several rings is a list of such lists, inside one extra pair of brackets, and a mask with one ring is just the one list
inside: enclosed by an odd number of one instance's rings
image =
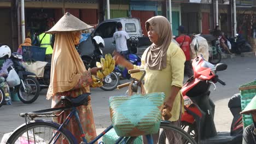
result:
[(181, 122), (181, 128), (198, 142), (198, 131), (195, 123)]

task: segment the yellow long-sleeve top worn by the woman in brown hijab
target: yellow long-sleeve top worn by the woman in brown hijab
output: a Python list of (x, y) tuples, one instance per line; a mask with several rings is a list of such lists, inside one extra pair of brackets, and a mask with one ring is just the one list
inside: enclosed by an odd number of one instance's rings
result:
[[(141, 59), (141, 66), (134, 65), (134, 69), (145, 69), (146, 76), (145, 80), (145, 90), (146, 93), (153, 92), (164, 92), (166, 99), (170, 96), (171, 86), (182, 87), (184, 79), (184, 63), (185, 55), (182, 49), (171, 43), (167, 50), (167, 66), (162, 70), (151, 70), (148, 69), (145, 64), (146, 55), (149, 49), (144, 51)], [(132, 74), (131, 77), (139, 79), (142, 76), (141, 73)], [(181, 100), (183, 104), (183, 99), (181, 91), (176, 95), (176, 98), (172, 107), (172, 117), (169, 121), (177, 121), (179, 119), (179, 113), (181, 111)]]

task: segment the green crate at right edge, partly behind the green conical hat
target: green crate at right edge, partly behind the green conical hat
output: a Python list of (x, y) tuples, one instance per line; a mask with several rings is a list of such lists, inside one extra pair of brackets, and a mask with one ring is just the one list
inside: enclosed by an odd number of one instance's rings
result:
[[(239, 87), (241, 93), (241, 108), (242, 111), (250, 103), (253, 97), (256, 95), (256, 81), (246, 83)], [(252, 115), (243, 115), (243, 127), (253, 124)]]

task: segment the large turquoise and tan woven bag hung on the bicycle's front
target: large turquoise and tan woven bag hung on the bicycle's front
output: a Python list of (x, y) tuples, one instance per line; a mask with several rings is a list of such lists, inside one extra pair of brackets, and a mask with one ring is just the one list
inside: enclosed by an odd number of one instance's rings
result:
[(110, 97), (110, 117), (118, 136), (158, 133), (164, 93)]

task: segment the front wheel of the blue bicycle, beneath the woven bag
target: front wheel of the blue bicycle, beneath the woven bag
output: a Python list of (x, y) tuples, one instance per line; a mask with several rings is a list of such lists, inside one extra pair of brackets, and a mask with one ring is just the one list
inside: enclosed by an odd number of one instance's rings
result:
[[(168, 136), (169, 139), (166, 139), (166, 135), (165, 135), (165, 130), (167, 131), (171, 131), (173, 133), (172, 136)], [(131, 137), (127, 143), (133, 143), (133, 141), (136, 139), (137, 137)], [(184, 130), (182, 130), (181, 128), (178, 128), (174, 125), (172, 125), (171, 123), (161, 123), (160, 124), (160, 137), (159, 137), (159, 141), (158, 144), (168, 144), (168, 143), (172, 143), (172, 144), (196, 144), (195, 140), (193, 139), (193, 137), (191, 137), (188, 133), (186, 133)]]

